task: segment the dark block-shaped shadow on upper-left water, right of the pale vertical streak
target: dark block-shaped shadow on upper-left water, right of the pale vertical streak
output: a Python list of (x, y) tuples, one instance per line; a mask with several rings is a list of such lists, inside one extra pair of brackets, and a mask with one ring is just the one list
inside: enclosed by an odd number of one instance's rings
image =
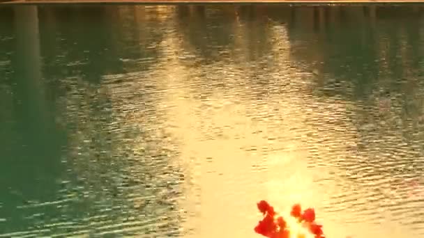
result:
[[(101, 75), (121, 72), (123, 62), (111, 35), (115, 26), (110, 24), (110, 11), (98, 6), (41, 8), (41, 44), (48, 49), (43, 52), (46, 70), (56, 71), (47, 74), (77, 75), (100, 84)], [(54, 67), (64, 63), (65, 69)]]

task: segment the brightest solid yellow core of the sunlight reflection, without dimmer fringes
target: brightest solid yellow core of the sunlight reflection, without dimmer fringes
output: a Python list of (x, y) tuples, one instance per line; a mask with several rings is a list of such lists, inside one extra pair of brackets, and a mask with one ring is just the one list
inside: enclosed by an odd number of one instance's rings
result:
[[(256, 104), (255, 111), (264, 111), (272, 117), (262, 122), (255, 121), (255, 115), (249, 115), (250, 100), (255, 100), (251, 90), (255, 88), (239, 86), (248, 80), (242, 72), (249, 74), (250, 69), (233, 62), (224, 62), (225, 72), (211, 72), (206, 66), (188, 68), (180, 63), (181, 55), (176, 53), (181, 47), (178, 35), (169, 32), (162, 42), (162, 48), (173, 53), (166, 54), (159, 63), (158, 68), (164, 72), (156, 83), (167, 92), (162, 100), (167, 104), (168, 130), (181, 143), (179, 163), (187, 164), (185, 173), (190, 177), (187, 186), (191, 192), (186, 194), (182, 205), (202, 204), (192, 207), (192, 212), (199, 217), (192, 217), (186, 223), (187, 230), (195, 230), (193, 237), (255, 237), (252, 225), (259, 218), (254, 210), (246, 208), (255, 205), (257, 200), (273, 200), (283, 208), (294, 202), (317, 206), (326, 200), (326, 194), (314, 185), (316, 175), (307, 168), (307, 141), (295, 142), (299, 136), (306, 136), (305, 132), (315, 130), (319, 134), (317, 128), (305, 123), (315, 115), (298, 111), (298, 108), (313, 111), (312, 99), (307, 93), (299, 93), (299, 90), (307, 90), (305, 79), (296, 77), (302, 73), (287, 65), (290, 46), (285, 27), (273, 24), (269, 27), (278, 54), (270, 58), (269, 63), (274, 67), (268, 73), (273, 75), (275, 87), (285, 85), (286, 96), (271, 93), (266, 101)], [(236, 44), (243, 44), (243, 37), (234, 35), (234, 38), (238, 39)], [(221, 67), (212, 65), (212, 68)], [(236, 77), (226, 78), (229, 74)], [(222, 77), (218, 81), (226, 80), (236, 87), (233, 88), (235, 95), (217, 90), (204, 98), (196, 98), (195, 86), (217, 75)], [(298, 130), (295, 133), (285, 128)], [(209, 139), (211, 133), (220, 140)], [(278, 143), (274, 143), (275, 140)], [(281, 145), (281, 141), (284, 147), (275, 147)]]

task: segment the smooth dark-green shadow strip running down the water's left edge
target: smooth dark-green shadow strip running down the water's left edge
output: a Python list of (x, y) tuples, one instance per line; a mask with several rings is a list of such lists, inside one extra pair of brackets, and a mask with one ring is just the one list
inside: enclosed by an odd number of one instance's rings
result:
[(2, 132), (6, 133), (1, 134), (1, 141), (6, 141), (1, 154), (1, 214), (8, 220), (6, 226), (0, 223), (3, 231), (31, 227), (39, 216), (50, 215), (22, 206), (55, 198), (59, 190), (56, 180), (63, 173), (60, 157), (65, 143), (45, 97), (37, 8), (23, 7), (13, 13), (18, 20), (12, 26), (15, 32), (10, 38), (15, 44), (10, 47), (16, 50), (10, 52), (10, 68), (5, 70), (8, 75), (3, 85), (9, 88), (4, 93), (10, 98), (9, 104), (4, 104), (9, 114), (2, 122), (6, 126)]

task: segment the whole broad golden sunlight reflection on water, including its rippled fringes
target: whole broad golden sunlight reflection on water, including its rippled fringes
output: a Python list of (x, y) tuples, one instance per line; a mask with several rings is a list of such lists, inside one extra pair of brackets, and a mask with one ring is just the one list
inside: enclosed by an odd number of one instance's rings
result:
[[(140, 17), (146, 10), (169, 13), (166, 8), (136, 8)], [(161, 51), (158, 62), (147, 72), (127, 74), (135, 81), (109, 88), (109, 93), (119, 108), (128, 100), (120, 95), (154, 88), (155, 110), (160, 111), (155, 120), (165, 120), (167, 127), (150, 133), (167, 135), (168, 142), (176, 143), (179, 156), (169, 164), (184, 174), (184, 194), (178, 199), (185, 217), (182, 237), (257, 237), (252, 228), (260, 216), (252, 207), (258, 200), (269, 200), (284, 214), (295, 203), (315, 207), (327, 237), (381, 234), (376, 226), (357, 223), (343, 212), (349, 209), (343, 203), (346, 193), (358, 203), (367, 203), (360, 196), (364, 193), (361, 184), (346, 178), (356, 175), (341, 168), (360, 160), (358, 128), (351, 120), (358, 105), (337, 96), (316, 97), (314, 84), (324, 85), (331, 76), (319, 63), (294, 63), (305, 58), (320, 62), (325, 56), (322, 49), (310, 47), (305, 54), (294, 54), (298, 49), (292, 49), (286, 24), (262, 19), (264, 28), (252, 34), (249, 28), (257, 22), (243, 22), (236, 15), (234, 24), (228, 24), (232, 47), (214, 46), (221, 56), (203, 64), (197, 54), (204, 49), (174, 31), (174, 21), (155, 20), (165, 27), (163, 37), (155, 42)], [(195, 27), (202, 24), (197, 22)], [(306, 27), (308, 22), (303, 24)], [(252, 40), (260, 43), (252, 48)], [(143, 83), (137, 84), (140, 79)], [(267, 84), (266, 90), (262, 84)], [(346, 87), (350, 90), (347, 82)], [(146, 123), (144, 112), (125, 111), (127, 123)], [(146, 147), (142, 141), (129, 146), (142, 152)], [(337, 208), (331, 202), (334, 197), (342, 200)], [(134, 203), (142, 206), (139, 200)], [(302, 230), (295, 221), (289, 225)]]

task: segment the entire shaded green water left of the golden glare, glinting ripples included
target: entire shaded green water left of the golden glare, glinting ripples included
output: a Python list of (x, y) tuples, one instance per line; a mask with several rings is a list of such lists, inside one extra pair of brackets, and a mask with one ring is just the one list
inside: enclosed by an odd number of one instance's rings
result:
[[(128, 7), (0, 10), (1, 232), (178, 235), (183, 177), (158, 137), (157, 89), (134, 88), (143, 76), (130, 74), (158, 58), (154, 21)], [(139, 92), (119, 93), (128, 88)]]

